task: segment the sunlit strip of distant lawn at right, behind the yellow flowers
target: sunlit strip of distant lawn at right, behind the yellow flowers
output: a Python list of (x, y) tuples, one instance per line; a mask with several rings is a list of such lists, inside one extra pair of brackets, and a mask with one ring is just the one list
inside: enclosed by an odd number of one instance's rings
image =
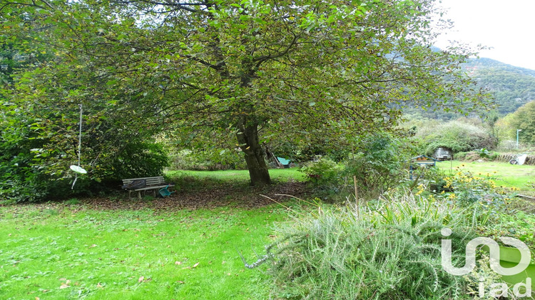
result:
[(496, 161), (443, 161), (437, 166), (447, 172), (455, 171), (455, 168), (459, 167), (476, 175), (488, 173), (498, 185), (516, 187), (520, 189), (519, 194), (535, 195), (535, 166), (519, 166)]

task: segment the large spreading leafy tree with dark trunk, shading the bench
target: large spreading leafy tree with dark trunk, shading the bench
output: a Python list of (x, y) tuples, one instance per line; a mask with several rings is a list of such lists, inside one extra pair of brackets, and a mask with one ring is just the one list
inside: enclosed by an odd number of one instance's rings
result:
[[(76, 74), (32, 82), (43, 96), (99, 95), (151, 131), (232, 135), (261, 185), (261, 144), (282, 131), (372, 134), (396, 124), (394, 104), (477, 106), (459, 72), (468, 53), (430, 47), (433, 2), (21, 0), (0, 11), (4, 27), (54, 49), (40, 71)], [(28, 16), (39, 30), (19, 25)]]

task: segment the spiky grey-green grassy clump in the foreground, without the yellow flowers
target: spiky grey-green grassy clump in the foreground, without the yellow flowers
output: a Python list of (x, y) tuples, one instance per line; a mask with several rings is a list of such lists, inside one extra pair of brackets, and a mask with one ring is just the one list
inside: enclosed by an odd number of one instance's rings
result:
[[(442, 268), (441, 229), (449, 227), (454, 264), (476, 218), (411, 195), (358, 208), (347, 205), (277, 229), (270, 271), (282, 299), (463, 299), (462, 276)], [(272, 245), (270, 245), (272, 246)], [(260, 259), (265, 260), (265, 256)]]

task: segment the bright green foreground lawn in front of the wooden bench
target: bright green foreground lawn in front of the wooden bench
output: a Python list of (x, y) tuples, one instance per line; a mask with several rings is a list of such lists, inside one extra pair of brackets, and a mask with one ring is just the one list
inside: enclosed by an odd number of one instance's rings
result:
[(0, 299), (267, 299), (267, 266), (245, 269), (236, 249), (255, 261), (287, 215), (0, 207)]

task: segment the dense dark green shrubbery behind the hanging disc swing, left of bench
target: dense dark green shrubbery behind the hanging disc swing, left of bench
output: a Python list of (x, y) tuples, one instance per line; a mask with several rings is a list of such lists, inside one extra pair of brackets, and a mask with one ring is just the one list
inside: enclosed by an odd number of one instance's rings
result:
[[(51, 61), (16, 74), (14, 89), (1, 91), (6, 99), (0, 106), (1, 197), (39, 201), (88, 194), (106, 188), (103, 181), (162, 174), (168, 165), (165, 151), (153, 143), (161, 129), (153, 126), (154, 119), (125, 117), (147, 102), (131, 96), (119, 106), (116, 95), (102, 86), (88, 92), (84, 82), (94, 74), (81, 71), (71, 81), (76, 87), (62, 86), (71, 75)], [(49, 81), (58, 86), (49, 89)], [(71, 190), (69, 166), (78, 163), (78, 104), (83, 104), (81, 166), (88, 174)]]

